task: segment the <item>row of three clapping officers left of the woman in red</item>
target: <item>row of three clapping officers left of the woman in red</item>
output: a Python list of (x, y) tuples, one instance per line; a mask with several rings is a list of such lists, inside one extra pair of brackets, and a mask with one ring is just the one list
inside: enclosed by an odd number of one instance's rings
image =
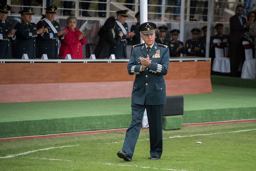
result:
[(58, 56), (58, 40), (62, 40), (67, 31), (61, 30), (59, 23), (54, 20), (56, 6), (46, 9), (45, 18), (37, 24), (32, 23), (32, 7), (20, 11), (22, 20), (12, 28), (6, 20), (9, 5), (0, 5), (0, 56), (1, 58), (12, 58), (11, 43), (16, 41), (16, 57), (21, 58), (27, 54), (29, 58), (36, 58), (36, 41), (38, 41), (38, 57), (47, 54), (50, 58)]

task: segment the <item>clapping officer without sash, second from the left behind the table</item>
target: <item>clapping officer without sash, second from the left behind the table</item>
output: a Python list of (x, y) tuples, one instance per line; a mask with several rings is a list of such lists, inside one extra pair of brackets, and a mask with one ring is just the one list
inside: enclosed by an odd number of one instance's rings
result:
[(36, 58), (36, 38), (37, 34), (44, 33), (46, 28), (44, 26), (37, 29), (32, 20), (32, 7), (24, 8), (20, 11), (22, 20), (15, 25), (17, 44), (16, 57), (21, 58), (23, 54), (27, 54), (28, 58)]

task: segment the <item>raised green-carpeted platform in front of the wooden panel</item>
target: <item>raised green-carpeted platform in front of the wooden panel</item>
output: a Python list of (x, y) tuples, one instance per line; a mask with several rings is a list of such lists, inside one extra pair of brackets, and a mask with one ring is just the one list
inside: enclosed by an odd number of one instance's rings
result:
[[(256, 89), (212, 89), (184, 95), (183, 123), (256, 118)], [(131, 98), (0, 103), (0, 109), (0, 138), (126, 128), (131, 123)]]

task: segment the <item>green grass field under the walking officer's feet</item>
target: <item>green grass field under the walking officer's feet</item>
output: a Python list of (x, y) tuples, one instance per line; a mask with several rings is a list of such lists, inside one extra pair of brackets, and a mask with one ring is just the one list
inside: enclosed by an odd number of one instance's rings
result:
[[(118, 158), (124, 136), (112, 132), (0, 142), (0, 170), (256, 170), (256, 122), (163, 131), (159, 160), (148, 159), (148, 130), (141, 131), (132, 162)], [(56, 148), (61, 146), (70, 147)]]

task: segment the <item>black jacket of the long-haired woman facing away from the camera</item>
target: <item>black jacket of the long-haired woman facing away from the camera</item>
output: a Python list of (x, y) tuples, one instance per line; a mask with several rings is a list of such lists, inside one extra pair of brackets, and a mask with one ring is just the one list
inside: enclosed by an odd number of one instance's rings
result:
[(100, 35), (99, 44), (96, 46), (94, 54), (96, 58), (109, 58), (110, 47), (116, 46), (121, 40), (121, 36), (113, 37), (112, 31), (106, 31)]

